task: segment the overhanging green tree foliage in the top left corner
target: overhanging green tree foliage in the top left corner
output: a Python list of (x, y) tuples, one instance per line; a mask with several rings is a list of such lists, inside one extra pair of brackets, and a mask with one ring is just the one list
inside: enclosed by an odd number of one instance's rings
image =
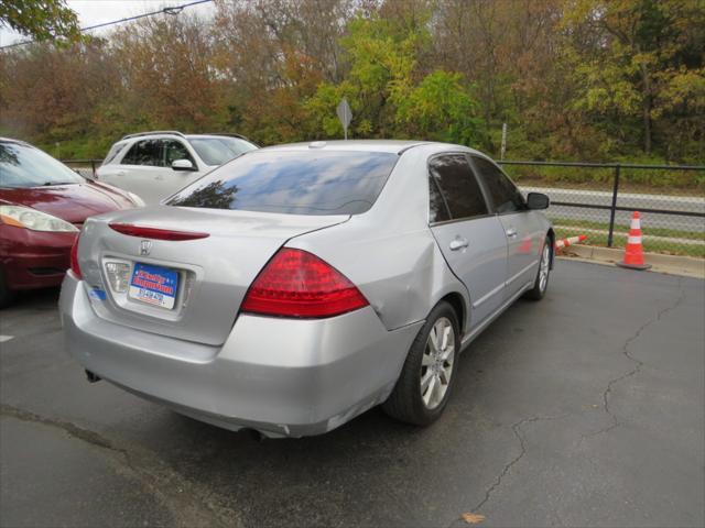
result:
[(65, 0), (13, 0), (0, 3), (0, 26), (9, 26), (35, 41), (80, 40), (78, 16)]

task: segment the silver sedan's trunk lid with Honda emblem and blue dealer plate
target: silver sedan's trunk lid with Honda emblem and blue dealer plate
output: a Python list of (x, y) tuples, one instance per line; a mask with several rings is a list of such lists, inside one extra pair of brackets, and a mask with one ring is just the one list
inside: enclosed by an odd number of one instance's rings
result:
[[(288, 240), (348, 219), (158, 206), (89, 219), (78, 258), (99, 317), (218, 345), (250, 284)], [(126, 234), (126, 227), (153, 231)], [(173, 232), (191, 240), (163, 240)]]

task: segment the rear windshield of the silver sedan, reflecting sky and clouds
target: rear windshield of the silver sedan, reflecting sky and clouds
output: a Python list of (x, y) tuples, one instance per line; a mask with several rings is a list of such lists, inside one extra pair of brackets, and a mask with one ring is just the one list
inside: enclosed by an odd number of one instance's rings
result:
[(359, 215), (397, 163), (380, 152), (257, 151), (216, 168), (166, 204), (290, 215)]

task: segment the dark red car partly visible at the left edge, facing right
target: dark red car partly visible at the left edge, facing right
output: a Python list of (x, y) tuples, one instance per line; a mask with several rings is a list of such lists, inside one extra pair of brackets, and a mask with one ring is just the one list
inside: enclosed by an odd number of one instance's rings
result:
[(141, 205), (28, 143), (0, 138), (0, 307), (17, 292), (62, 283), (87, 217)]

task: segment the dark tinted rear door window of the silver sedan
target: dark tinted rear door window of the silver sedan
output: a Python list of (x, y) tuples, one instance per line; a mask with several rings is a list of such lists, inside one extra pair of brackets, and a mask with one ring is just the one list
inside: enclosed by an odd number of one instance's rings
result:
[(434, 157), (429, 170), (454, 219), (487, 215), (485, 198), (465, 155)]

